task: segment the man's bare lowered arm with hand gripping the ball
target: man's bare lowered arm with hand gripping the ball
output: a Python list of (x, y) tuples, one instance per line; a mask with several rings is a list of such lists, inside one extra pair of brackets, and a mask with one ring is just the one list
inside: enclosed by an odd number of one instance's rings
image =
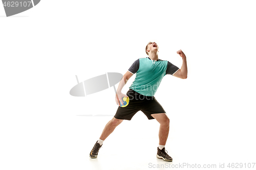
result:
[(118, 106), (120, 106), (119, 101), (121, 102), (121, 104), (123, 104), (122, 102), (122, 98), (125, 96), (127, 97), (127, 95), (123, 94), (121, 92), (123, 86), (127, 83), (127, 81), (133, 76), (133, 74), (130, 71), (127, 71), (124, 75), (123, 78), (121, 79), (121, 81), (119, 82), (118, 88), (116, 90), (116, 104)]

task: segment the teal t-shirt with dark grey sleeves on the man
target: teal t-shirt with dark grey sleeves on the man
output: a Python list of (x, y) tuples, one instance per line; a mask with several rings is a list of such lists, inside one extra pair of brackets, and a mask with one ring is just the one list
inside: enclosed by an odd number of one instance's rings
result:
[(154, 96), (163, 77), (173, 75), (179, 68), (166, 60), (151, 60), (149, 57), (136, 60), (129, 68), (136, 78), (130, 89), (146, 96)]

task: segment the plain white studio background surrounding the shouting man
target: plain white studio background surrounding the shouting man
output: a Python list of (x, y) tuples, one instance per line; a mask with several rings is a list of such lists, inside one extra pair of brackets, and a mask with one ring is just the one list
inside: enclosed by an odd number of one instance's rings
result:
[(254, 1), (41, 1), (6, 17), (0, 6), (0, 169), (166, 163), (156, 158), (159, 124), (142, 112), (124, 120), (90, 159), (112, 118), (96, 115), (116, 112), (114, 89), (69, 94), (75, 75), (84, 81), (125, 74), (147, 57), (148, 41), (178, 67), (176, 52), (187, 56), (188, 78), (165, 76), (155, 95), (170, 118), (172, 164), (255, 162), (254, 7)]

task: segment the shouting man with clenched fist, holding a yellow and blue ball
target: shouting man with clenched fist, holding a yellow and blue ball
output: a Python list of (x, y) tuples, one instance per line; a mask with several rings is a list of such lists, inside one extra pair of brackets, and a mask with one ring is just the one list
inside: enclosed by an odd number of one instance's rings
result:
[[(123, 104), (121, 99), (124, 96), (129, 96), (130, 103), (126, 107), (118, 107), (115, 116), (106, 124), (99, 140), (95, 143), (90, 153), (91, 158), (97, 158), (103, 141), (124, 119), (131, 120), (135, 113), (142, 111), (148, 119), (156, 119), (160, 123), (157, 158), (164, 161), (173, 161), (165, 152), (165, 143), (169, 133), (169, 118), (154, 95), (165, 75), (170, 74), (177, 78), (186, 79), (187, 63), (186, 56), (181, 50), (177, 52), (183, 60), (180, 69), (169, 61), (158, 59), (158, 52), (157, 43), (149, 42), (146, 45), (148, 57), (136, 60), (123, 76), (116, 91), (116, 103), (118, 106), (120, 106), (120, 102)], [(121, 92), (123, 86), (135, 73), (136, 78), (129, 87), (129, 91), (127, 91), (126, 95), (123, 94)]]

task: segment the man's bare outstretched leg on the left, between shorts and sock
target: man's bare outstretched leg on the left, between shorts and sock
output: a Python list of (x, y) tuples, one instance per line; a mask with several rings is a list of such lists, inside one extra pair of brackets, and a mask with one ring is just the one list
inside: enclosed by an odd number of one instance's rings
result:
[(100, 139), (101, 140), (105, 140), (114, 130), (115, 128), (121, 124), (123, 122), (122, 119), (117, 119), (115, 117), (113, 117), (110, 122), (108, 122), (105, 126), (105, 128), (103, 129), (101, 135), (100, 135)]

